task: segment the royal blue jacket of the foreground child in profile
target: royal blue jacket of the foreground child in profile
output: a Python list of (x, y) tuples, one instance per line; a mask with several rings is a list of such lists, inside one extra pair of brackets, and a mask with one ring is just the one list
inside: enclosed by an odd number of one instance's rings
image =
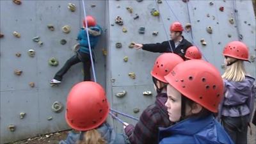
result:
[(233, 144), (227, 132), (212, 115), (191, 117), (168, 128), (159, 128), (159, 143)]

